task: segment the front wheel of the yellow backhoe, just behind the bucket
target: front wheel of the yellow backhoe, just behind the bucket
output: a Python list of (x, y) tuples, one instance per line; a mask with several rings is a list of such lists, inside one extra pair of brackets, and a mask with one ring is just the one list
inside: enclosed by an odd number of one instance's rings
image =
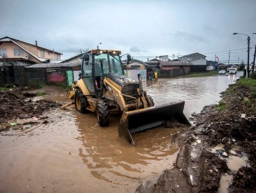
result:
[(96, 114), (100, 127), (109, 126), (109, 106), (106, 101), (98, 99), (96, 104)]

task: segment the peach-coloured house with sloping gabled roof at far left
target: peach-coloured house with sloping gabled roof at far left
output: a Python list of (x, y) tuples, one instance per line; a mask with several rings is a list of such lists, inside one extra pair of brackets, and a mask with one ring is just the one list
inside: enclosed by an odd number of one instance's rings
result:
[(59, 61), (62, 53), (10, 37), (0, 39), (0, 65), (8, 61), (12, 65), (31, 65)]

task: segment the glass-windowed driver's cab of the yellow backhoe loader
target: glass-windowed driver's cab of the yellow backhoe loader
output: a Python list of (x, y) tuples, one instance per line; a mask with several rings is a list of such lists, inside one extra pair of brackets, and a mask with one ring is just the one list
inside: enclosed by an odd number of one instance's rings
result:
[(103, 79), (110, 73), (124, 74), (120, 51), (91, 50), (82, 57), (82, 79), (91, 95), (102, 96)]

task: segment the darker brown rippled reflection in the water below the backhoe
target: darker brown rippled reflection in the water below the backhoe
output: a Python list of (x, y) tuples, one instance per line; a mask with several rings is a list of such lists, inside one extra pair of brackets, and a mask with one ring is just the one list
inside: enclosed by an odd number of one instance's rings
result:
[[(97, 179), (123, 184), (125, 179), (142, 179), (171, 167), (179, 148), (170, 143), (177, 130), (156, 128), (134, 136), (136, 147), (118, 136), (120, 117), (112, 117), (108, 128), (100, 128), (92, 114), (77, 113), (79, 156)], [(173, 158), (172, 158), (173, 157)], [(154, 171), (154, 172), (152, 172)], [(118, 178), (119, 177), (119, 178)], [(120, 177), (122, 177), (120, 179)]]

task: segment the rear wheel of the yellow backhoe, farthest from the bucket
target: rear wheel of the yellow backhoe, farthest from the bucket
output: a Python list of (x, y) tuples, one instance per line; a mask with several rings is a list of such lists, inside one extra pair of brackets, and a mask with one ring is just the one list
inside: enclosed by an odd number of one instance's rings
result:
[(84, 96), (81, 90), (75, 90), (75, 110), (86, 114), (89, 112), (89, 110), (86, 110), (87, 105), (88, 102), (86, 96)]

